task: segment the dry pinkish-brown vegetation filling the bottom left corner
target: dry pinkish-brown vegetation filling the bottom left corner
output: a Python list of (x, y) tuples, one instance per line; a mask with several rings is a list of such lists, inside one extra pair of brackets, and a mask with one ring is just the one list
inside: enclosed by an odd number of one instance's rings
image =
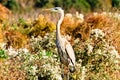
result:
[[(26, 80), (26, 73), (22, 69), (22, 63), (17, 62), (18, 58), (13, 58), (7, 61), (0, 61), (0, 79), (1, 80)], [(19, 60), (18, 60), (19, 61)]]

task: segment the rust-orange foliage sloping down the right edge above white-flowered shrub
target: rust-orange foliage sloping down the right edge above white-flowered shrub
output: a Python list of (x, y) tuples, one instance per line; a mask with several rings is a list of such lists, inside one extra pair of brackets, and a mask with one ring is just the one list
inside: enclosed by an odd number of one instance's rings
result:
[[(114, 16), (114, 15), (113, 15)], [(120, 53), (120, 21), (103, 13), (94, 13), (86, 16), (85, 21), (92, 29), (99, 28), (104, 31), (108, 41), (116, 47)]]

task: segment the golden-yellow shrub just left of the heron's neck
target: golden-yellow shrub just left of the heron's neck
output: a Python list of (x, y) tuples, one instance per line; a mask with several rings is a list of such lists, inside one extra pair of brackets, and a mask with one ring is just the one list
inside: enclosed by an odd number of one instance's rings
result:
[(29, 35), (31, 36), (44, 36), (48, 32), (55, 30), (55, 24), (46, 18), (44, 15), (39, 15), (38, 19), (33, 21)]

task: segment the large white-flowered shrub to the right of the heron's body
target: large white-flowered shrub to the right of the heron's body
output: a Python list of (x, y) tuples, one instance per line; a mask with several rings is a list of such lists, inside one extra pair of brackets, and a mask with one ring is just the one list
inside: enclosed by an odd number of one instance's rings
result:
[(85, 80), (108, 80), (116, 79), (118, 76), (115, 73), (119, 73), (120, 56), (115, 47), (106, 41), (102, 31), (92, 30), (91, 38), (86, 42), (75, 42), (74, 50), (77, 65), (81, 64), (81, 69), (84, 71), (84, 73), (81, 73), (81, 70), (76, 72), (82, 75), (77, 76), (78, 79), (81, 79), (83, 75)]

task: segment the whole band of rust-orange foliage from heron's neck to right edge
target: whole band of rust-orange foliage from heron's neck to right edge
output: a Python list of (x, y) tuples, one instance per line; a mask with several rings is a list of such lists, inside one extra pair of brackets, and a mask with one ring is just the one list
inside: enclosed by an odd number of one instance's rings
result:
[[(82, 41), (90, 37), (92, 29), (101, 29), (106, 34), (108, 41), (116, 47), (120, 53), (120, 21), (111, 18), (104, 13), (91, 13), (85, 16), (84, 22), (72, 15), (65, 16), (61, 25), (61, 33), (70, 35), (72, 39), (79, 38)], [(73, 41), (73, 40), (71, 40)]]

